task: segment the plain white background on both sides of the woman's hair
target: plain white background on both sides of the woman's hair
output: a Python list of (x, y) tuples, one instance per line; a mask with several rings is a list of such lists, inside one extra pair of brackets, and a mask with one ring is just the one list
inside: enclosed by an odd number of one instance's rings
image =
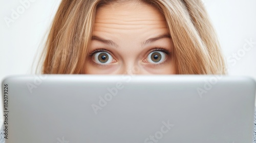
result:
[[(43, 38), (60, 0), (33, 1), (26, 8), (20, 0), (0, 2), (0, 81), (8, 75), (35, 73)], [(229, 75), (256, 79), (256, 44), (250, 47), (246, 42), (250, 39), (256, 42), (256, 1), (205, 0), (204, 3), (218, 33), (224, 56), (229, 58)], [(24, 11), (8, 27), (5, 18), (11, 18), (12, 10), (17, 12), (17, 9)], [(250, 50), (244, 51), (244, 45)], [(238, 59), (232, 57), (236, 53), (240, 55)]]

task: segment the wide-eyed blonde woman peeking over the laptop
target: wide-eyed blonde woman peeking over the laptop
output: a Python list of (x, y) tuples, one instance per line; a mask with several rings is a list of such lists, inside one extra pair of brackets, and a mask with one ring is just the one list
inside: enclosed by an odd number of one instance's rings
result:
[(63, 0), (43, 56), (43, 74), (225, 74), (199, 0)]

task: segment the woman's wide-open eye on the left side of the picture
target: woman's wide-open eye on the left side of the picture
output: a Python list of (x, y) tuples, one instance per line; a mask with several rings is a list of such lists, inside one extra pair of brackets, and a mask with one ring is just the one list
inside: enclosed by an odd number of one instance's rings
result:
[(98, 52), (93, 55), (93, 60), (97, 64), (108, 64), (113, 62), (113, 57), (106, 52)]

